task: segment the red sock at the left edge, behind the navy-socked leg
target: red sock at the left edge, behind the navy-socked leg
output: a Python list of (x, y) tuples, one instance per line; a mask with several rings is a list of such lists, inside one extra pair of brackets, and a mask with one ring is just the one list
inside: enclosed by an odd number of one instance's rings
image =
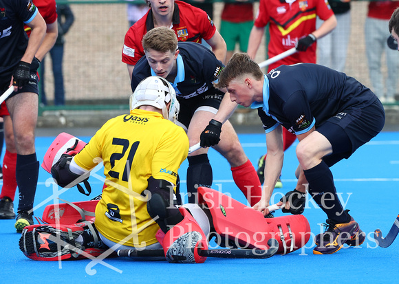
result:
[(3, 159), (3, 187), (1, 188), (0, 199), (10, 197), (12, 201), (15, 198), (17, 190), (17, 179), (15, 177), (15, 168), (17, 166), (17, 153), (10, 153), (6, 150)]

